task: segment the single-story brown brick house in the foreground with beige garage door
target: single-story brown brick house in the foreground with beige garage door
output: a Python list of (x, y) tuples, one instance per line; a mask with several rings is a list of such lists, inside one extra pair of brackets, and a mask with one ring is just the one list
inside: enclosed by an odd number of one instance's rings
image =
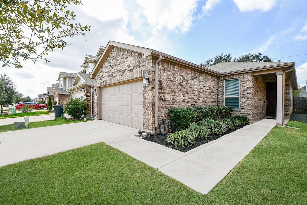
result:
[(294, 62), (232, 62), (205, 68), (114, 41), (108, 42), (90, 78), (97, 89), (96, 120), (150, 132), (169, 118), (169, 108), (213, 105), (234, 106), (235, 114), (251, 122), (276, 118), (276, 125), (282, 126), (297, 90)]

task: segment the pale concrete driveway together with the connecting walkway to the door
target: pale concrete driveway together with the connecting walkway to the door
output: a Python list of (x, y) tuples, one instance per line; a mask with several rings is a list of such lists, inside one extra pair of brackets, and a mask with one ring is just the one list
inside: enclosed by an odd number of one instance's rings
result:
[(102, 120), (2, 132), (0, 166), (105, 142), (207, 194), (270, 132), (275, 122), (258, 121), (185, 153), (135, 137), (137, 129)]

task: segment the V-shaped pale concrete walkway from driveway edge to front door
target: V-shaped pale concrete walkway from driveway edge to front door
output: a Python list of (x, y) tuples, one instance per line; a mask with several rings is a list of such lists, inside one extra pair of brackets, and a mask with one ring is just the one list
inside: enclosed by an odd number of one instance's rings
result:
[(195, 191), (208, 194), (275, 126), (263, 119), (188, 152), (135, 136), (106, 143), (159, 169)]

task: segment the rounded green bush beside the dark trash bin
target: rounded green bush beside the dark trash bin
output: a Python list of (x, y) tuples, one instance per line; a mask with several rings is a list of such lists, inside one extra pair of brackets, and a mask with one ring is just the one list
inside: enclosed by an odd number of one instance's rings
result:
[(65, 104), (65, 112), (75, 120), (85, 116), (86, 100), (83, 97), (69, 99)]

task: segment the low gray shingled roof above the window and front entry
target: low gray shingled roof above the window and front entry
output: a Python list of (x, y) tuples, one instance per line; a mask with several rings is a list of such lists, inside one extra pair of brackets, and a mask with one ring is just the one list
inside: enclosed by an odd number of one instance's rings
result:
[(217, 71), (221, 74), (243, 70), (261, 69), (265, 67), (274, 67), (292, 62), (224, 62), (208, 66), (208, 69)]

